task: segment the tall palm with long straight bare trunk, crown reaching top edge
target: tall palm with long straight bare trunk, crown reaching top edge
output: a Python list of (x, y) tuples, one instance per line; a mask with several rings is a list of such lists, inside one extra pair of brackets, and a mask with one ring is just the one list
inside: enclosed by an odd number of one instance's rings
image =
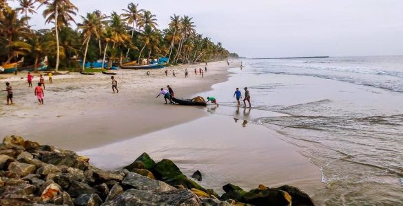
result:
[[(69, 25), (72, 21), (75, 23), (72, 15), (76, 15), (78, 8), (70, 2), (70, 0), (40, 0), (41, 5), (47, 5), (47, 8), (43, 11), (43, 17), (47, 18), (45, 23), (54, 23), (54, 32), (56, 34), (56, 67), (55, 70), (59, 70), (59, 27), (63, 25)], [(39, 5), (39, 6), (41, 6)]]

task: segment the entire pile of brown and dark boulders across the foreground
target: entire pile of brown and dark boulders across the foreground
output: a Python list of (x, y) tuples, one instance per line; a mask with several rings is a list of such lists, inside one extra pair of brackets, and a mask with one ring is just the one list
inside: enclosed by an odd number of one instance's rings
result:
[(313, 205), (296, 187), (259, 185), (249, 192), (227, 184), (218, 196), (168, 159), (143, 153), (122, 170), (104, 171), (87, 157), (10, 136), (0, 144), (0, 205)]

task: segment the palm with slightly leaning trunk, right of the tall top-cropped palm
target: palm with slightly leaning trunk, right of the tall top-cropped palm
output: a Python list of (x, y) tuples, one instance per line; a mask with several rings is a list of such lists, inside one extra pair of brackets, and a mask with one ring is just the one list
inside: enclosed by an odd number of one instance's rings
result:
[(79, 23), (79, 29), (83, 30), (82, 35), (84, 37), (83, 43), (85, 43), (85, 52), (83, 58), (83, 71), (85, 69), (85, 58), (87, 58), (88, 44), (90, 43), (91, 36), (99, 38), (99, 31), (101, 30), (101, 19), (96, 15), (96, 12), (87, 13), (87, 16), (81, 16), (83, 23)]

